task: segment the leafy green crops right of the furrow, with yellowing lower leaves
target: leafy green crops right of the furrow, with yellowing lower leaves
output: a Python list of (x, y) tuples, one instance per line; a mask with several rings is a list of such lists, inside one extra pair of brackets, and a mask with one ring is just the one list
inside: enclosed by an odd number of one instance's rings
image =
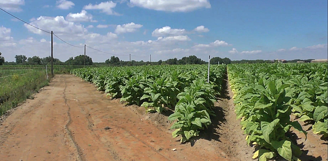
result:
[(285, 134), (306, 132), (291, 114), (327, 137), (327, 64), (230, 64), (228, 77), (247, 143), (260, 149), (254, 158), (298, 159), (302, 152)]

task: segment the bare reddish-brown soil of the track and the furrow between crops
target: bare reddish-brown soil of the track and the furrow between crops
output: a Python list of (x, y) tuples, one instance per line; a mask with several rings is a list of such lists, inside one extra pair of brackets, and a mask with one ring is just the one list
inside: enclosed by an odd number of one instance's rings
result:
[[(171, 136), (170, 113), (145, 114), (144, 108), (110, 100), (80, 78), (56, 75), (35, 99), (0, 122), (0, 160), (251, 161), (254, 148), (246, 145), (232, 96), (225, 89), (215, 104), (213, 125), (202, 137), (180, 144)], [(298, 142), (309, 150), (307, 160), (325, 160), (327, 144), (314, 139)]]

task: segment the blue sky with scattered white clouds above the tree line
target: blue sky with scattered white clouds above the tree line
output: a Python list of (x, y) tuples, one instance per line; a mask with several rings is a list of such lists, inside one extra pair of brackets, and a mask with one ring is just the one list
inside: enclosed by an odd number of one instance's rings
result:
[[(53, 36), (61, 61), (104, 62), (195, 55), (241, 59), (326, 59), (326, 0), (0, 0), (0, 8)], [(51, 34), (0, 10), (0, 52), (51, 55)], [(97, 50), (106, 52), (99, 52)], [(108, 54), (110, 53), (110, 54)]]

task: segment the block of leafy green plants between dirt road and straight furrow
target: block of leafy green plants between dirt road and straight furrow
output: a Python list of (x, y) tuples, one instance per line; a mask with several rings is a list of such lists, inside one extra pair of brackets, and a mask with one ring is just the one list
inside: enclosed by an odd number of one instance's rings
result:
[(143, 106), (148, 112), (174, 110), (172, 136), (181, 142), (198, 136), (210, 125), (215, 96), (220, 95), (225, 65), (213, 65), (207, 83), (206, 65), (103, 67), (72, 70), (72, 74), (94, 83), (113, 98), (129, 105)]

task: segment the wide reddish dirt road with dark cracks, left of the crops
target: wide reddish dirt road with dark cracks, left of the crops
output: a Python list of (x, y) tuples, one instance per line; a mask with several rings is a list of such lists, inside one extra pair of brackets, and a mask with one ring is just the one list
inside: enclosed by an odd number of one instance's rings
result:
[(57, 75), (0, 125), (1, 161), (235, 160), (206, 143), (179, 144), (73, 75)]

